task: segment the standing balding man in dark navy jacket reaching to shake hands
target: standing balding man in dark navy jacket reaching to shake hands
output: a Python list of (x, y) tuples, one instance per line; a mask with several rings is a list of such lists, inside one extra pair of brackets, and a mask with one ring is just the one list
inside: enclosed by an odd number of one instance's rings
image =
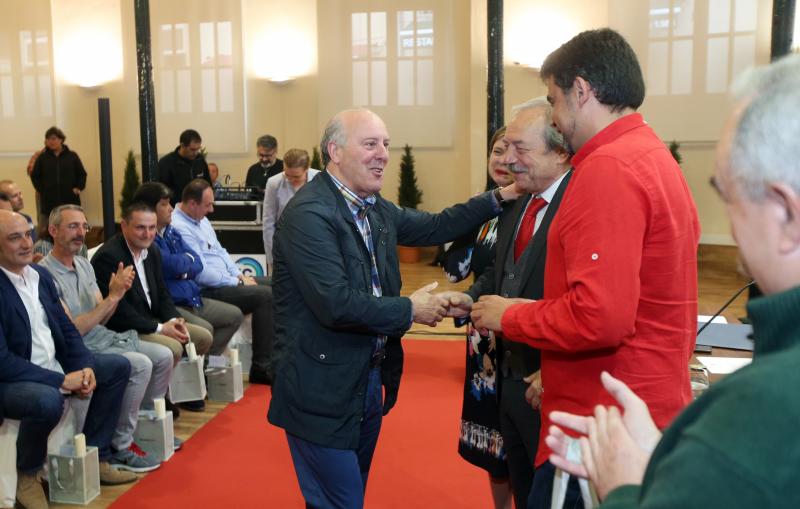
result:
[[(434, 285), (400, 297), (397, 244), (442, 244), (501, 210), (492, 192), (439, 214), (386, 201), (388, 145), (371, 111), (336, 115), (320, 144), (326, 171), (297, 192), (275, 234), (269, 420), (286, 430), (308, 507), (363, 505), (382, 416), (397, 401), (400, 337), (444, 315)], [(515, 197), (511, 187), (497, 194)]]

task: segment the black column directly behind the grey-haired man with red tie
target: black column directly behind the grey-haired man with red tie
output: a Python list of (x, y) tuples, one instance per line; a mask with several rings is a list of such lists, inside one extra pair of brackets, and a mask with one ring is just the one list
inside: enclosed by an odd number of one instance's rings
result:
[[(492, 147), (489, 142), (495, 131), (503, 127), (503, 0), (486, 0), (487, 11), (487, 49), (488, 79), (486, 86), (486, 146), (487, 153)], [(487, 189), (493, 185), (486, 176)]]

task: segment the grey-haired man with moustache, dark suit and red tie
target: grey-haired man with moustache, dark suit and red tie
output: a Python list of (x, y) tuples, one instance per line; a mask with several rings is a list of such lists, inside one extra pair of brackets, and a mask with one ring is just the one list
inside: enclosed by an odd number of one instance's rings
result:
[[(504, 162), (516, 184), (530, 194), (504, 208), (493, 266), (466, 294), (440, 294), (453, 303), (450, 314), (454, 316), (468, 313), (472, 302), (481, 295), (542, 298), (547, 231), (569, 183), (569, 152), (564, 138), (552, 126), (551, 108), (544, 99), (533, 99), (514, 108), (504, 139), (508, 143)], [(525, 507), (539, 441), (539, 351), (522, 343), (503, 341), (499, 335), (497, 348), (500, 432), (514, 502), (517, 507)]]

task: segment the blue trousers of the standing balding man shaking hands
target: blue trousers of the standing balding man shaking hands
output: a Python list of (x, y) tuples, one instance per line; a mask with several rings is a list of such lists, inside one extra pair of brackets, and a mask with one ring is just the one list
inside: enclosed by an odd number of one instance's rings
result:
[(369, 467), (383, 420), (381, 370), (369, 370), (358, 449), (335, 449), (286, 434), (300, 491), (307, 508), (364, 506)]

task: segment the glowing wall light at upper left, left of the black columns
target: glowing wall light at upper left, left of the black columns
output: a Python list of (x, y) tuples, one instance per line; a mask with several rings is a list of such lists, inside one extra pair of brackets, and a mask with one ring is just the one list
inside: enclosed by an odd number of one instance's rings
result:
[(85, 88), (122, 77), (119, 0), (52, 0), (56, 76)]

